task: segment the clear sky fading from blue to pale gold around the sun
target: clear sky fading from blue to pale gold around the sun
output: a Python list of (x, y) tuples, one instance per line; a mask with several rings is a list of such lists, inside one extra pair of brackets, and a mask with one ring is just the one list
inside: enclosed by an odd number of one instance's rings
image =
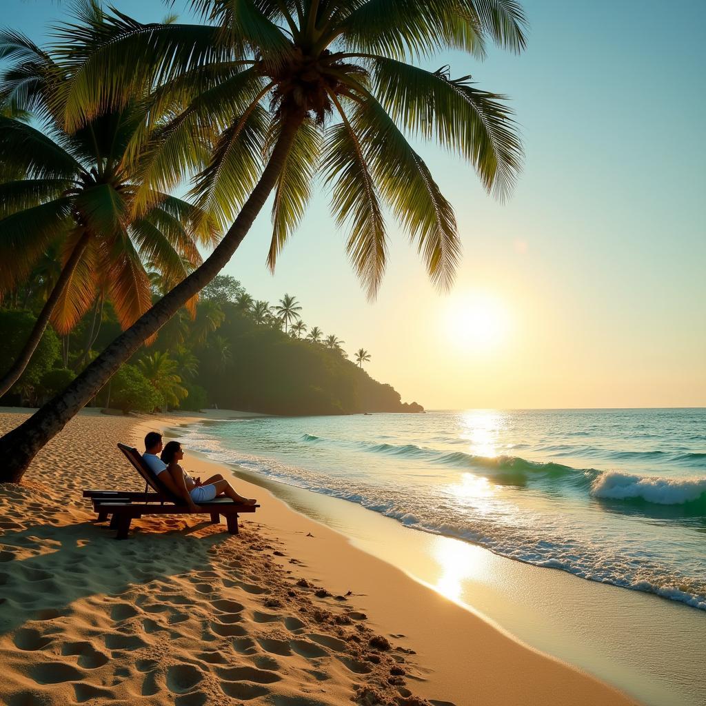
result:
[[(161, 0), (114, 0), (143, 20)], [(186, 4), (177, 0), (175, 9)], [(419, 146), (453, 204), (463, 256), (448, 293), (388, 219), (376, 301), (319, 185), (270, 275), (265, 206), (224, 273), (301, 302), (366, 369), (427, 409), (706, 405), (706, 44), (700, 0), (525, 0), (527, 51), (429, 62), (510, 97), (525, 163), (500, 203), (472, 167)], [(70, 4), (4, 0), (1, 24), (44, 42)]]

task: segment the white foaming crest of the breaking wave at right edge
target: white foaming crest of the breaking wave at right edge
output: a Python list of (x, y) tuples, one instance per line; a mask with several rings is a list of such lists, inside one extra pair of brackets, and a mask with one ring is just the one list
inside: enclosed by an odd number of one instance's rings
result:
[(591, 485), (591, 494), (596, 498), (641, 498), (658, 505), (690, 503), (705, 493), (706, 478), (640, 477), (617, 471), (600, 474)]

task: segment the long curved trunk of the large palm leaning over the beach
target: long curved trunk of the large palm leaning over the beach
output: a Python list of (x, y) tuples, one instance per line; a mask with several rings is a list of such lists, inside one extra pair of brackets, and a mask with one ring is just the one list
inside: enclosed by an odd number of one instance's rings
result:
[(186, 301), (200, 292), (225, 267), (273, 190), (303, 119), (304, 114), (301, 112), (292, 112), (285, 117), (282, 131), (260, 181), (225, 237), (203, 264), (121, 333), (66, 390), (0, 438), (0, 458), (3, 460), (0, 483), (18, 483), (42, 446), (64, 429), (66, 422), (109, 381), (145, 339), (157, 333)]

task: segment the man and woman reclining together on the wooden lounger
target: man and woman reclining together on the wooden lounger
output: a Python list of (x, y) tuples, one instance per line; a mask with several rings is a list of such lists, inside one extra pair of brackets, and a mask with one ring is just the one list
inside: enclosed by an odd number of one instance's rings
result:
[[(160, 453), (161, 452), (161, 453)], [(157, 454), (160, 454), (157, 456)], [(243, 505), (254, 505), (256, 501), (239, 495), (220, 473), (205, 479), (192, 478), (180, 465), (184, 451), (178, 441), (162, 445), (162, 434), (150, 431), (145, 436), (145, 465), (160, 477), (160, 481), (178, 498), (184, 498), (192, 512), (198, 512), (198, 503), (208, 503), (218, 496), (232, 498)]]

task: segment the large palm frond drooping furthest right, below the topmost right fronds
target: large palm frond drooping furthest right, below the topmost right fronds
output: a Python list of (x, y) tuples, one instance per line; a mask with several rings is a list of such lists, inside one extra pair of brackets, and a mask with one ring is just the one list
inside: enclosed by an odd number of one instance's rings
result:
[(503, 198), (520, 169), (522, 146), (504, 97), (402, 61), (372, 61), (374, 90), (398, 124), (465, 157), (488, 191)]

